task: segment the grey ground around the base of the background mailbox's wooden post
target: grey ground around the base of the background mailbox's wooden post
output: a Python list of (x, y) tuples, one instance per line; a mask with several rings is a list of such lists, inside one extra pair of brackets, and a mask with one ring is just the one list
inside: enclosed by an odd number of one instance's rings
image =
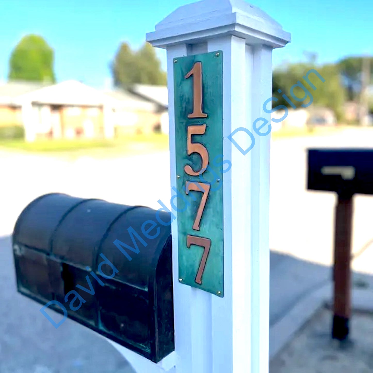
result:
[(373, 317), (357, 313), (351, 319), (352, 344), (326, 335), (332, 313), (320, 310), (270, 363), (269, 373), (370, 373), (373, 371)]

